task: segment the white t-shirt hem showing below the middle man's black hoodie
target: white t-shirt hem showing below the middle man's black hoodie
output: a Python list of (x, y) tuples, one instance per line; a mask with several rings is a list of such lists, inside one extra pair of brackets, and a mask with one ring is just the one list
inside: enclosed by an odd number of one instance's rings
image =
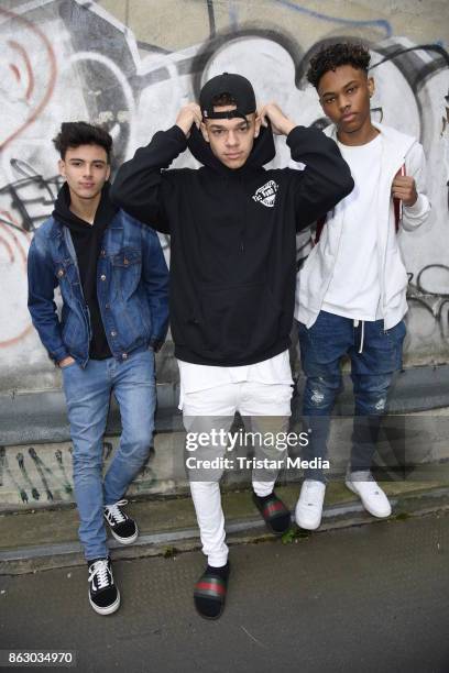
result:
[(269, 385), (293, 385), (288, 349), (269, 360), (239, 367), (198, 365), (183, 360), (178, 360), (177, 363), (180, 377), (179, 409), (183, 408), (185, 393), (207, 390), (230, 383), (247, 380)]

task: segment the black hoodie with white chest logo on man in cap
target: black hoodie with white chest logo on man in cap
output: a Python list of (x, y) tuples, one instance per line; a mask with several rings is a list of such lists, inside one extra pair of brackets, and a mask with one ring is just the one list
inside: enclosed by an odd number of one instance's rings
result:
[(193, 126), (188, 146), (204, 166), (164, 170), (187, 147), (175, 125), (120, 168), (111, 198), (172, 235), (171, 328), (179, 360), (239, 366), (288, 346), (295, 234), (331, 210), (353, 181), (321, 131), (296, 126), (287, 145), (304, 170), (263, 168), (275, 154), (267, 129), (244, 166), (230, 169)]

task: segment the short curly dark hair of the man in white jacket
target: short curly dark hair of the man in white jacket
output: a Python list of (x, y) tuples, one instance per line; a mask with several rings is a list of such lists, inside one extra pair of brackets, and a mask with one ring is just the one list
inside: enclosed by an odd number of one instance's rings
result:
[(329, 70), (336, 70), (339, 66), (351, 65), (358, 70), (368, 73), (371, 55), (363, 44), (351, 42), (338, 42), (320, 48), (310, 59), (307, 79), (318, 89), (319, 80)]

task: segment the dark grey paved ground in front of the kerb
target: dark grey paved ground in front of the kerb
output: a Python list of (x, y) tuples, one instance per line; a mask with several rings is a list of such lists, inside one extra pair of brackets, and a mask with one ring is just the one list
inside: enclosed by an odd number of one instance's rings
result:
[(193, 607), (199, 552), (116, 562), (110, 617), (84, 567), (2, 576), (0, 647), (76, 650), (83, 673), (449, 671), (449, 515), (237, 545), (231, 562), (218, 622)]

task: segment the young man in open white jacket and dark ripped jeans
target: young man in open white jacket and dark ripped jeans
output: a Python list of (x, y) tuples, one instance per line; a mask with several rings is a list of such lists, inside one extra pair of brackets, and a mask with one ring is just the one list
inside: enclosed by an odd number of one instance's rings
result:
[[(421, 145), (371, 120), (369, 64), (368, 49), (350, 43), (325, 46), (310, 62), (307, 78), (333, 122), (325, 133), (338, 143), (355, 188), (317, 222), (297, 275), (295, 317), (306, 375), (303, 415), (311, 429), (307, 457), (326, 457), (341, 360), (349, 355), (355, 409), (346, 485), (383, 518), (391, 506), (371, 464), (392, 377), (402, 366), (407, 274), (397, 233), (423, 224), (430, 205)], [(307, 470), (298, 526), (319, 527), (325, 492), (322, 471)]]

